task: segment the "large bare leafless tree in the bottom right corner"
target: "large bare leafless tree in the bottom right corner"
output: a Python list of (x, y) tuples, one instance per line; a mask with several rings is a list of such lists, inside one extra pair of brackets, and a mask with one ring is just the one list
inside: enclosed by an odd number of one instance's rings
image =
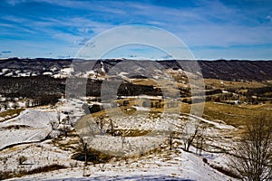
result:
[(244, 180), (272, 180), (272, 122), (259, 118), (250, 121), (230, 159)]

